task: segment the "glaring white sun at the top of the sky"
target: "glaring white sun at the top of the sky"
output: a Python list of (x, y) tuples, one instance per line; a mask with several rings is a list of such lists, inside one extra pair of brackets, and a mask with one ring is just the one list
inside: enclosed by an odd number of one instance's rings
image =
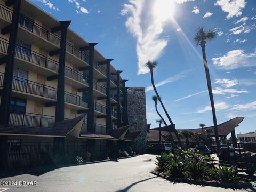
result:
[(174, 17), (175, 5), (175, 0), (156, 0), (153, 12), (159, 20), (170, 20)]

